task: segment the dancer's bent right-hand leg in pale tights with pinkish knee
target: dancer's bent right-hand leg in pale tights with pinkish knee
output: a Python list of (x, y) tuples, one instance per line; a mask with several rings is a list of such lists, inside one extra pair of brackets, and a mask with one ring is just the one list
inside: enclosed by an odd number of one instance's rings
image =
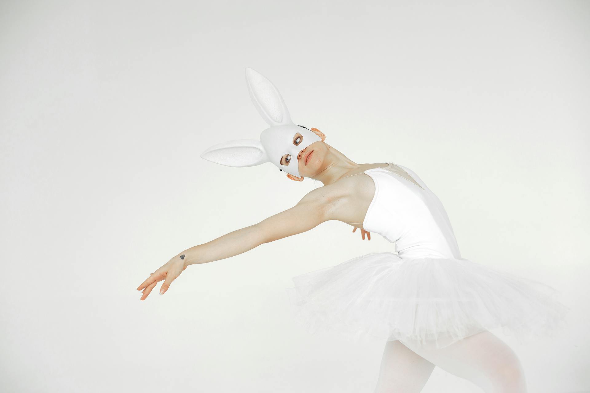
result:
[(486, 393), (526, 393), (525, 374), (514, 351), (488, 331), (445, 348), (412, 348), (432, 364), (467, 379)]

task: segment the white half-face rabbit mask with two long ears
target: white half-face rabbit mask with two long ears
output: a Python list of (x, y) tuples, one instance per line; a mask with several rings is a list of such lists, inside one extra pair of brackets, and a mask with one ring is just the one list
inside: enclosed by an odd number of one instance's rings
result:
[[(260, 140), (235, 139), (222, 142), (209, 147), (201, 157), (230, 167), (251, 167), (270, 162), (293, 176), (301, 177), (297, 158), (299, 152), (322, 138), (291, 121), (283, 97), (273, 82), (247, 67), (246, 83), (254, 106), (270, 128), (262, 131)], [(294, 138), (297, 133), (303, 138)], [(294, 144), (297, 141), (299, 144)], [(287, 165), (281, 164), (285, 154), (291, 156)]]

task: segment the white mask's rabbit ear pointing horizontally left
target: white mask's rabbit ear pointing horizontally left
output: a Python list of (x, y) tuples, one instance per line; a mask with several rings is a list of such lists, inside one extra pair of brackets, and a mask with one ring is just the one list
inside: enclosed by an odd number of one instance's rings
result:
[(252, 167), (268, 162), (259, 140), (235, 139), (218, 143), (201, 154), (201, 158), (229, 167)]

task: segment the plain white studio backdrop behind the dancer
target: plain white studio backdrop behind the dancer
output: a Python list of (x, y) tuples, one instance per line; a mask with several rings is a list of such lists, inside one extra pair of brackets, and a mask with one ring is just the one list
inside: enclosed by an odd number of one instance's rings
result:
[[(266, 128), (244, 69), (357, 163), (410, 167), (463, 257), (548, 283), (530, 392), (590, 391), (590, 4), (2, 1), (3, 391), (372, 392), (383, 342), (309, 335), (291, 277), (393, 245), (339, 222), (136, 287), (316, 185), (207, 147)], [(479, 392), (435, 369), (424, 389)]]

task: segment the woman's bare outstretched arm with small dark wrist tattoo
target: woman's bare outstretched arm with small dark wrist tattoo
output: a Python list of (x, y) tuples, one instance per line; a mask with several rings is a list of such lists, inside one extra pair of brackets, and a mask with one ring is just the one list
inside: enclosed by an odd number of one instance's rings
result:
[(284, 212), (178, 253), (137, 288), (137, 290), (143, 289), (141, 300), (149, 295), (156, 283), (165, 279), (160, 289), (160, 295), (162, 295), (188, 265), (239, 255), (263, 243), (306, 232), (324, 221), (331, 220), (330, 212), (336, 198), (331, 196), (328, 190), (326, 187), (314, 189), (299, 203)]

